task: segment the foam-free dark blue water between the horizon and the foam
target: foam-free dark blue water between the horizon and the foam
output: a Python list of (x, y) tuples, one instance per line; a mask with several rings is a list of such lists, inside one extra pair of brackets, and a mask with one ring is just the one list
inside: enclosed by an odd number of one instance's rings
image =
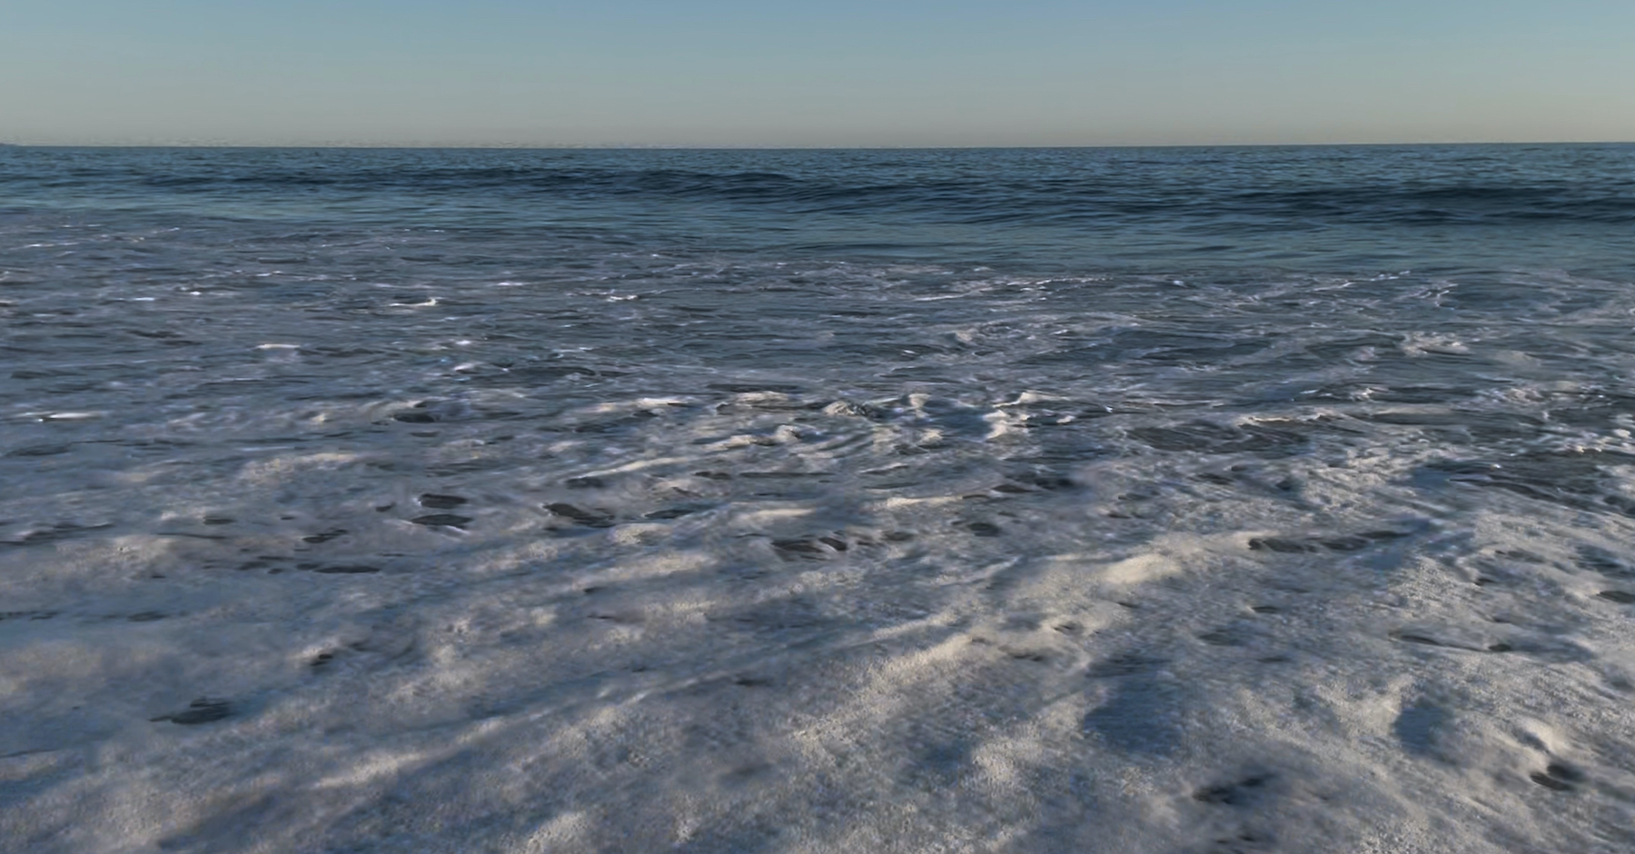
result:
[[(8, 149), (11, 216), (1009, 272), (1628, 276), (1635, 146)], [(262, 229), (255, 226), (260, 224)]]

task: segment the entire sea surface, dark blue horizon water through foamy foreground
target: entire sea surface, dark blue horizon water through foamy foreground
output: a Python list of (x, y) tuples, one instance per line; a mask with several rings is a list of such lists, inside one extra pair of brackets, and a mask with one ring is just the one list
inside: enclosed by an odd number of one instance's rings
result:
[(1635, 146), (0, 149), (0, 849), (1630, 851)]

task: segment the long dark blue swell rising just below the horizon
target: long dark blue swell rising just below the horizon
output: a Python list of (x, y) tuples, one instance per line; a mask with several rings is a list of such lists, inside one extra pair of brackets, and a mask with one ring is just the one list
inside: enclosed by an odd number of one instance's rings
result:
[[(942, 214), (956, 222), (1094, 222), (1144, 216), (1308, 219), (1373, 224), (1514, 224), (1537, 221), (1635, 222), (1635, 182), (1596, 185), (1393, 187), (1248, 190), (1154, 182), (1136, 175), (1055, 180), (917, 180), (853, 183), (777, 172), (680, 169), (425, 169), (314, 175), (268, 172), (237, 177), (152, 177), (154, 188), (281, 193), (335, 188), (350, 193), (504, 193), (569, 200), (647, 198), (723, 201), (788, 213)], [(1622, 191), (1620, 191), (1622, 190)]]

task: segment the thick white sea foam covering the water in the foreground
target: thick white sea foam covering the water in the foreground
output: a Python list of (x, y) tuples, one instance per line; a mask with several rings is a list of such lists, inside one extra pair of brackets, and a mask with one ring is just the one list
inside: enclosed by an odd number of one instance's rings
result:
[[(963, 406), (801, 401), (608, 401), (582, 417), (662, 411), (500, 443), (479, 404), (428, 438), (172, 455), (13, 504), (51, 524), (0, 553), (0, 767), (52, 782), (8, 838), (724, 849), (770, 821), (791, 851), (1200, 826), (1452, 851), (1445, 821), (1545, 833), (1628, 782), (1630, 605), (1602, 594), (1625, 569), (1583, 551), (1619, 555), (1622, 522), (1427, 494), (1436, 448), (1372, 453), (1349, 420), (1306, 422), (1297, 456), (1200, 445), (1033, 483), (1006, 460), (1037, 438), (970, 434)], [(924, 437), (942, 450), (896, 450)]]

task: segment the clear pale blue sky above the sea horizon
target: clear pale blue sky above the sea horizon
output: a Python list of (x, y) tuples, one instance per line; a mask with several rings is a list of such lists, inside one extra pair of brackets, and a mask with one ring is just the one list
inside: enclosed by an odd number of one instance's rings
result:
[(0, 0), (0, 142), (1635, 141), (1635, 0)]

